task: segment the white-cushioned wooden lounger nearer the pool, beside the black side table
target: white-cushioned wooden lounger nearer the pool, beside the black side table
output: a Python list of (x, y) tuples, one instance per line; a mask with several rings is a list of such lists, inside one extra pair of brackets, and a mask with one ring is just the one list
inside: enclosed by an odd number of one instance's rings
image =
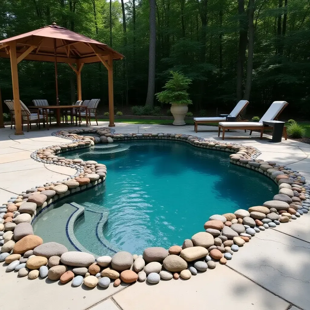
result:
[[(219, 134), (221, 128), (223, 130), (222, 140), (224, 140), (225, 130), (226, 129), (244, 129), (250, 130), (250, 135), (253, 130), (260, 130), (260, 139), (263, 139), (263, 131), (269, 130), (270, 126), (266, 126), (263, 124), (263, 121), (273, 121), (277, 120), (278, 116), (284, 110), (284, 108), (288, 105), (286, 101), (274, 101), (271, 106), (268, 108), (267, 112), (263, 115), (263, 117), (256, 122), (220, 122), (219, 123)], [(286, 127), (283, 129), (285, 139), (287, 139), (286, 135)], [(218, 135), (219, 136), (219, 135)]]

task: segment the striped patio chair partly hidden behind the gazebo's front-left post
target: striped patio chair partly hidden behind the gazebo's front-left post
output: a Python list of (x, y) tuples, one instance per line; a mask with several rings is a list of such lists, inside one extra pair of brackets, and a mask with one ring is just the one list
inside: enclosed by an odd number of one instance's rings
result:
[[(15, 129), (15, 110), (14, 110), (14, 100), (4, 100), (4, 103), (10, 110), (11, 114), (11, 129), (14, 122), (14, 129)], [(29, 127), (31, 129), (31, 123), (37, 123), (40, 129), (40, 121), (43, 121), (43, 126), (45, 126), (45, 117), (44, 115), (40, 114), (39, 109), (31, 109), (30, 110), (25, 106), (25, 104), (20, 100), (21, 106), (21, 115), (22, 115), (22, 129), (24, 128), (24, 121), (27, 121), (27, 132), (29, 132)], [(47, 121), (47, 120), (46, 120)]]

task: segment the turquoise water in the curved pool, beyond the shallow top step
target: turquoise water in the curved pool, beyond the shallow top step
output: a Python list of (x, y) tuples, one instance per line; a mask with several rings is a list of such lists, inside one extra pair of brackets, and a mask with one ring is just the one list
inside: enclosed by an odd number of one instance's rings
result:
[(277, 186), (263, 175), (231, 165), (228, 156), (165, 140), (101, 144), (66, 153), (104, 163), (108, 171), (105, 187), (66, 200), (85, 207), (85, 217), (74, 229), (76, 238), (91, 252), (109, 254), (95, 236), (100, 216), (91, 212), (104, 210), (104, 237), (120, 250), (142, 254), (149, 246), (181, 245), (203, 231), (210, 215), (271, 200)]

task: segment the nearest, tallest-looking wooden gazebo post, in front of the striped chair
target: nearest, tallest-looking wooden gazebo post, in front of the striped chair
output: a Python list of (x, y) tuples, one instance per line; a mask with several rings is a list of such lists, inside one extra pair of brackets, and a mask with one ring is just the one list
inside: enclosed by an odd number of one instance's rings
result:
[(21, 126), (21, 108), (20, 108), (19, 87), (18, 87), (16, 41), (10, 42), (9, 46), (10, 46), (13, 98), (14, 98), (14, 112), (15, 112), (15, 135), (23, 135), (24, 133)]

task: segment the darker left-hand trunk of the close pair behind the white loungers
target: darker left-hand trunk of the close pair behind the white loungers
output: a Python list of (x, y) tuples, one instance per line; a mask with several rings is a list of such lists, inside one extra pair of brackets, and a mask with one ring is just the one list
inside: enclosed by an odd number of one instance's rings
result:
[(243, 97), (242, 80), (243, 80), (243, 66), (246, 58), (246, 44), (248, 33), (248, 22), (244, 10), (244, 0), (238, 0), (238, 14), (239, 14), (239, 48), (237, 60), (237, 102)]

